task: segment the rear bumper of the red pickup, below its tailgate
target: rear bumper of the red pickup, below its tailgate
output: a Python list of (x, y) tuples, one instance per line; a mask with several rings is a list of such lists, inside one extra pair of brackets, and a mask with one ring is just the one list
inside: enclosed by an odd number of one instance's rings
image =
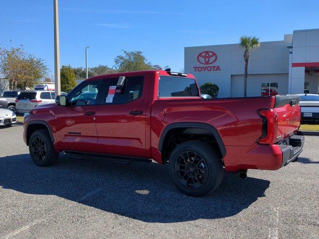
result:
[(299, 154), (303, 151), (305, 136), (293, 135), (287, 139), (287, 144), (279, 144), (279, 147), (283, 154), (282, 167), (286, 166), (290, 162), (294, 161)]

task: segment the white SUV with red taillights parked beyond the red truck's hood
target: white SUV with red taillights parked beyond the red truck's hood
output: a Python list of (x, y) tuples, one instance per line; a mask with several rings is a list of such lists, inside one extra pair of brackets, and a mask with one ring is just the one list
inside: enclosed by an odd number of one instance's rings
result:
[[(67, 95), (62, 92), (61, 95)], [(15, 99), (16, 114), (29, 112), (39, 105), (55, 103), (54, 91), (22, 91)]]

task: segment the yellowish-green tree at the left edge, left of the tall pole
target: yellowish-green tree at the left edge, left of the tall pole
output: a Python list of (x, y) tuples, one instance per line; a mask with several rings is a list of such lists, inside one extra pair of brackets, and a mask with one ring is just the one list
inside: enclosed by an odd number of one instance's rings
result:
[(41, 58), (27, 54), (23, 46), (0, 48), (0, 74), (9, 81), (10, 90), (33, 88), (47, 75), (48, 68)]

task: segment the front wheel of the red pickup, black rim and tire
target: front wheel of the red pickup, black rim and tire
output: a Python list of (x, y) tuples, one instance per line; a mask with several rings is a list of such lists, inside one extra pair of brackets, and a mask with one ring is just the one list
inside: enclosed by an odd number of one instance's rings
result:
[(51, 137), (46, 129), (39, 129), (31, 134), (29, 152), (38, 166), (51, 166), (57, 162), (59, 153), (55, 152)]

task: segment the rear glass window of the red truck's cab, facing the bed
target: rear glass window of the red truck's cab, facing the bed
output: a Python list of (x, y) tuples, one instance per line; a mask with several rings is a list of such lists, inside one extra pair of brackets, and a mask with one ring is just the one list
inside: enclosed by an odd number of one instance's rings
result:
[(158, 97), (199, 97), (199, 92), (192, 78), (160, 76)]

